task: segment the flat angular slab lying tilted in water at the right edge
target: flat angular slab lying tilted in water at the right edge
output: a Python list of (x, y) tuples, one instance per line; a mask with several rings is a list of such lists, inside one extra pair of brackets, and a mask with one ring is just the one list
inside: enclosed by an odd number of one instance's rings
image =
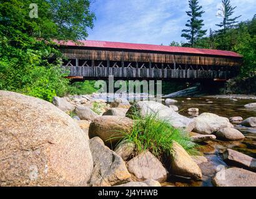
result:
[(256, 171), (256, 159), (249, 155), (242, 154), (232, 149), (227, 149), (224, 154), (224, 161), (227, 164)]

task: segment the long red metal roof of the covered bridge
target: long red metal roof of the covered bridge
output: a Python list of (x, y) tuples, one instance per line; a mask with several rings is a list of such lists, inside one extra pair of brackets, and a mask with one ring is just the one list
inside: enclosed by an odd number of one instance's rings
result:
[(59, 45), (70, 47), (94, 47), (104, 49), (126, 49), (126, 50), (149, 50), (158, 52), (170, 52), (170, 53), (194, 53), (201, 55), (219, 55), (227, 57), (242, 57), (239, 53), (225, 51), (225, 50), (210, 50), (210, 49), (194, 49), (188, 47), (171, 47), (166, 45), (151, 45), (151, 44), (130, 44), (122, 42), (103, 42), (94, 40), (80, 40), (80, 44), (75, 42), (57, 42)]

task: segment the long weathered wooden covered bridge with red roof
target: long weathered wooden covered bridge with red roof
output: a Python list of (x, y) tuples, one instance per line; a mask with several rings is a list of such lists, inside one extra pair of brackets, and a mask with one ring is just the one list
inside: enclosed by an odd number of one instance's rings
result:
[(242, 56), (224, 50), (85, 40), (59, 42), (69, 78), (207, 79), (237, 75)]

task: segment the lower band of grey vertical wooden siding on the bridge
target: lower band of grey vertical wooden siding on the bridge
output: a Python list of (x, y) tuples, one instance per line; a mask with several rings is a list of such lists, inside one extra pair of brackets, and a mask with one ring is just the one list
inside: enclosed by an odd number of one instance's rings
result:
[(116, 78), (191, 78), (191, 79), (228, 79), (233, 76), (230, 71), (207, 70), (169, 70), (150, 68), (107, 68), (107, 67), (64, 67), (70, 70), (71, 76), (107, 78), (114, 75)]

